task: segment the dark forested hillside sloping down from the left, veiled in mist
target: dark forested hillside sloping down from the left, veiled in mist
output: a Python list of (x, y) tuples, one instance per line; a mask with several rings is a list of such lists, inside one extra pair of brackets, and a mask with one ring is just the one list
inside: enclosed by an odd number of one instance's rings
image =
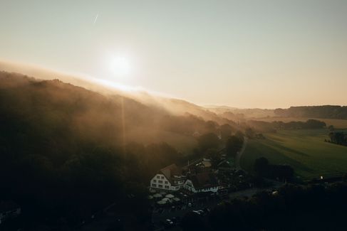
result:
[[(19, 203), (33, 230), (75, 227), (111, 203), (118, 203), (124, 227), (144, 229), (152, 174), (218, 148), (236, 131), (233, 122), (221, 126), (121, 95), (7, 72), (0, 72), (0, 114), (0, 198)], [(170, 139), (144, 144), (131, 136), (139, 127), (189, 136), (196, 149), (182, 153)]]

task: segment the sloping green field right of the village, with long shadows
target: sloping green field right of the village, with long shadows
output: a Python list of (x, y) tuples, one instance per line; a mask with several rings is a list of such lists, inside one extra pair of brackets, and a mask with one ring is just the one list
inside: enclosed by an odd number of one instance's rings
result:
[(302, 180), (347, 173), (347, 146), (324, 142), (328, 129), (278, 131), (264, 136), (266, 139), (249, 140), (241, 158), (245, 170), (252, 171), (254, 160), (264, 156), (270, 163), (291, 165)]

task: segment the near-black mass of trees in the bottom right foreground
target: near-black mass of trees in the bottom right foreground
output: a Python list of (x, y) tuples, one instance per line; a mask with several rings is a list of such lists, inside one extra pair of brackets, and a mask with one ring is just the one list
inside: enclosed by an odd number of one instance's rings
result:
[(217, 205), (206, 218), (188, 213), (183, 230), (346, 230), (347, 183), (294, 186)]

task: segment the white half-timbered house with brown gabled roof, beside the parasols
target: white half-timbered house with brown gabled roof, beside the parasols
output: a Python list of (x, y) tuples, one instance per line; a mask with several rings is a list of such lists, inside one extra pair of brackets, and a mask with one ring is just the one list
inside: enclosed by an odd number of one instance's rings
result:
[(177, 191), (183, 188), (187, 176), (182, 175), (182, 168), (174, 164), (160, 169), (150, 180), (150, 188)]

